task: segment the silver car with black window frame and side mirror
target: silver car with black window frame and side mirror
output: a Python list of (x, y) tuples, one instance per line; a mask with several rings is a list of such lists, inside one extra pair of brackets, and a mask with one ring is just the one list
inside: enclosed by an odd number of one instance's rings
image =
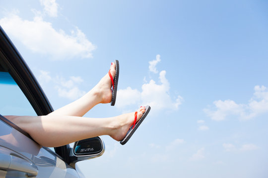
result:
[(78, 161), (104, 153), (100, 137), (55, 148), (39, 145), (5, 115), (47, 115), (48, 98), (0, 26), (0, 178), (83, 178)]

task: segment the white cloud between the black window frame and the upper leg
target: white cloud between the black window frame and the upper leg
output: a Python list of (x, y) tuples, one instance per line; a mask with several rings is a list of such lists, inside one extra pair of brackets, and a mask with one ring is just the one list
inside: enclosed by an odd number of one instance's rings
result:
[(78, 85), (83, 82), (81, 77), (71, 76), (69, 77), (69, 80), (66, 80), (65, 78), (59, 76), (52, 78), (47, 71), (40, 71), (40, 73), (41, 74), (38, 76), (38, 80), (41, 81), (41, 84), (45, 85), (52, 83), (50, 85), (54, 85), (60, 97), (75, 100), (86, 93), (78, 88)]

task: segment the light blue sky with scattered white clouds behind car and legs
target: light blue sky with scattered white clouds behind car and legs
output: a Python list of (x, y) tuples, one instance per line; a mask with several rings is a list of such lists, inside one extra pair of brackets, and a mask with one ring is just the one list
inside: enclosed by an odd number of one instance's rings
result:
[(120, 61), (116, 106), (152, 110), (87, 177), (267, 178), (266, 0), (2, 0), (0, 25), (57, 109)]

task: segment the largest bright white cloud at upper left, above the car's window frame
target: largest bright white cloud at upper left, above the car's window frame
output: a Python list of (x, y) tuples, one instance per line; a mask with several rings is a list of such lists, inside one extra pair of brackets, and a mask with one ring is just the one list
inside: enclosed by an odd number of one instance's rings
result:
[(24, 20), (13, 11), (1, 18), (0, 24), (10, 37), (31, 51), (48, 54), (54, 60), (89, 58), (96, 48), (77, 27), (67, 35), (63, 30), (54, 29), (41, 16), (35, 16), (32, 21)]

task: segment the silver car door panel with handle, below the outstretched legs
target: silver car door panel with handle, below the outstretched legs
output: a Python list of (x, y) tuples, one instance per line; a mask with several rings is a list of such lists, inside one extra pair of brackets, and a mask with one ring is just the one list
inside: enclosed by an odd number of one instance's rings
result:
[(76, 171), (49, 148), (0, 116), (0, 178), (78, 178)]

